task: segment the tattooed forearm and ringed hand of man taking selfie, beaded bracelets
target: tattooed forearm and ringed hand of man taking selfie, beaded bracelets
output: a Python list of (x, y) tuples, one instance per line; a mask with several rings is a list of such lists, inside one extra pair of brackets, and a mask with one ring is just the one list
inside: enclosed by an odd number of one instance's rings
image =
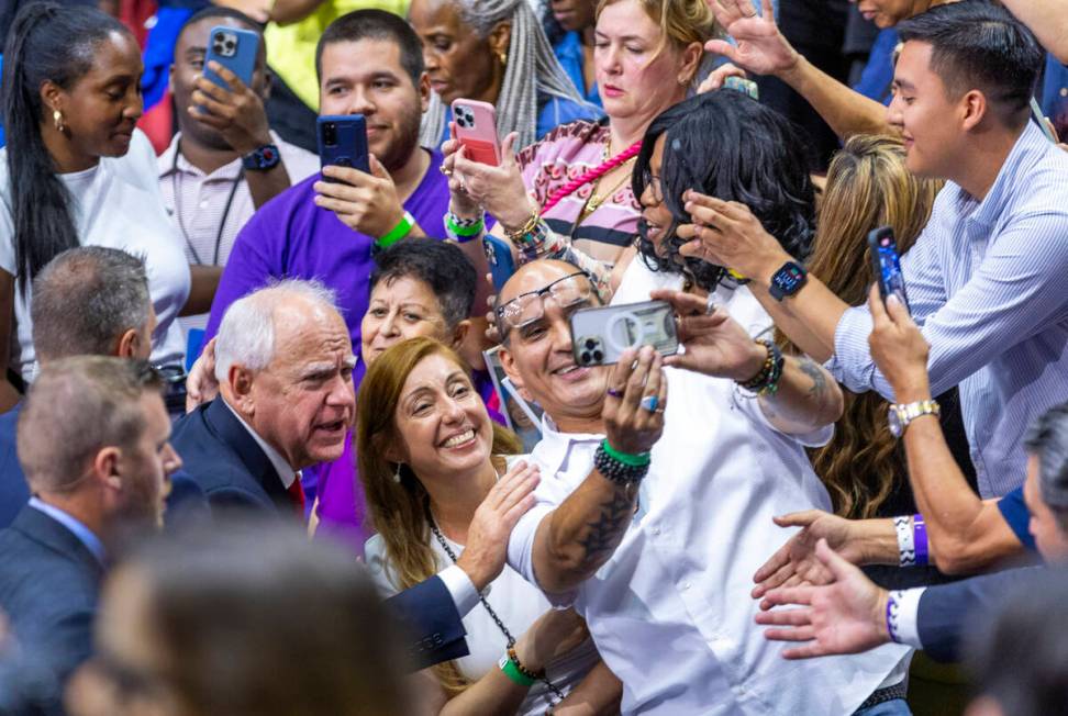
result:
[[(636, 362), (635, 362), (636, 358)], [(632, 369), (633, 363), (633, 369)], [(656, 396), (653, 410), (642, 405)], [(534, 536), (533, 564), (537, 583), (546, 592), (574, 590), (609, 560), (631, 524), (641, 477), (626, 479), (625, 462), (645, 462), (664, 430), (667, 381), (661, 358), (645, 346), (627, 350), (609, 378), (603, 418), (609, 465), (623, 468), (614, 477), (594, 467), (578, 489), (550, 512)], [(612, 457), (621, 456), (621, 458)], [(609, 468), (604, 468), (609, 469)]]

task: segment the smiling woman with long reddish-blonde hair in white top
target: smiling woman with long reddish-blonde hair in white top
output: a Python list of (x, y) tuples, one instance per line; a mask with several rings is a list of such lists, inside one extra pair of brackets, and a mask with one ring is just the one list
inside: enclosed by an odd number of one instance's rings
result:
[[(412, 338), (379, 356), (360, 385), (359, 474), (374, 526), (366, 558), (392, 594), (450, 566), (475, 510), (519, 439), (490, 421), (463, 359)], [(518, 461), (512, 470), (529, 470)], [(431, 713), (618, 713), (622, 686), (575, 613), (504, 567), (464, 617), (470, 655), (427, 670)], [(512, 644), (514, 641), (514, 645)], [(544, 674), (531, 679), (531, 674)]]

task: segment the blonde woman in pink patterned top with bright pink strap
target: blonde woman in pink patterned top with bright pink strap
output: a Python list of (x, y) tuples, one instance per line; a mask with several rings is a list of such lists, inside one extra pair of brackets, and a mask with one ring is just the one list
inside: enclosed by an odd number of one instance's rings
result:
[(641, 206), (631, 174), (642, 137), (696, 87), (714, 32), (705, 0), (600, 0), (594, 65), (608, 121), (559, 126), (518, 156), (515, 138), (507, 137), (499, 167), (471, 161), (446, 142), (446, 231), (471, 236), (485, 211), (521, 261), (563, 258), (608, 289), (613, 265), (624, 251), (633, 255)]

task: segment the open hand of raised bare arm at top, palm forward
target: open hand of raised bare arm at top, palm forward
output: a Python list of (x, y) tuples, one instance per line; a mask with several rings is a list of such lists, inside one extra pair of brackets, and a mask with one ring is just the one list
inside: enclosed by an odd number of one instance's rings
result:
[(779, 75), (793, 69), (800, 56), (779, 32), (771, 0), (761, 0), (760, 14), (754, 5), (755, 0), (710, 0), (716, 22), (734, 37), (737, 46), (724, 40), (710, 40), (704, 48), (756, 75)]

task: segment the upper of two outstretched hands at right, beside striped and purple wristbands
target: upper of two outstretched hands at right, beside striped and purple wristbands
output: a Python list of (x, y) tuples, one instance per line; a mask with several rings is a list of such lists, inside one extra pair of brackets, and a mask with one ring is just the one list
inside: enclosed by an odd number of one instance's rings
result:
[[(854, 564), (863, 560), (858, 538), (854, 533), (855, 523), (845, 517), (822, 510), (805, 510), (781, 517), (774, 517), (779, 527), (801, 527), (764, 563), (753, 581), (753, 598), (758, 600), (768, 591), (780, 586), (830, 584), (834, 574), (816, 557), (816, 545), (826, 540), (832, 549)], [(769, 600), (760, 602), (761, 609), (770, 609)]]

